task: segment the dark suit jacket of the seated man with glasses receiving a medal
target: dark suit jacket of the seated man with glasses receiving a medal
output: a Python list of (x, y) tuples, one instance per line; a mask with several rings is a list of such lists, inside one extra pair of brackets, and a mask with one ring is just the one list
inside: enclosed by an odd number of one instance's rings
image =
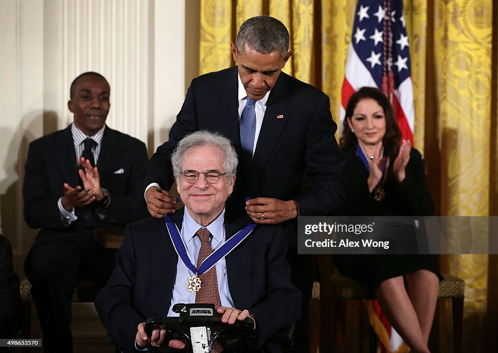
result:
[[(180, 228), (183, 209), (171, 219)], [(227, 237), (247, 225), (244, 219), (225, 220)], [(256, 318), (258, 345), (301, 315), (301, 294), (290, 282), (286, 250), (279, 226), (256, 226), (226, 257), (234, 305)], [(124, 352), (133, 351), (139, 323), (167, 315), (177, 261), (164, 219), (148, 218), (126, 227), (116, 269), (95, 300), (100, 319)]]

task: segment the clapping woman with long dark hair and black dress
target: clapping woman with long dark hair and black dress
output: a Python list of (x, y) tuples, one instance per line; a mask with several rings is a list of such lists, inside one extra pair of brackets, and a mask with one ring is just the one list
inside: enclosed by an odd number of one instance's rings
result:
[[(382, 91), (363, 87), (346, 108), (340, 142), (351, 185), (349, 216), (428, 216), (434, 206), (420, 153), (401, 132)], [(334, 255), (337, 269), (364, 283), (412, 352), (429, 352), (439, 267), (435, 255)]]

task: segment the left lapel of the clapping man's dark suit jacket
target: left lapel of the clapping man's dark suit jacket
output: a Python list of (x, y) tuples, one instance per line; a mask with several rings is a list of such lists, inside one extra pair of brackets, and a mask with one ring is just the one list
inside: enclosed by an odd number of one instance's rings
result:
[(57, 136), (54, 147), (53, 154), (61, 171), (62, 180), (72, 187), (78, 186), (80, 182), (76, 167), (77, 161), (71, 125), (62, 130)]

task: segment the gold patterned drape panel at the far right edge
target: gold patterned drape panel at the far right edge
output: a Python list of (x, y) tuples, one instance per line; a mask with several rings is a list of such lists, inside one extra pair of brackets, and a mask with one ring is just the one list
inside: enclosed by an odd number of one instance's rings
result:
[[(430, 11), (433, 38), (428, 45), (433, 54), (426, 64), (434, 68), (433, 118), (437, 125), (426, 131), (426, 136), (438, 142), (439, 166), (433, 165), (436, 168), (428, 173), (440, 176), (441, 214), (487, 216), (492, 210), (490, 154), (496, 154), (496, 147), (491, 149), (491, 126), (497, 116), (492, 114), (491, 101), (492, 72), (498, 68), (497, 62), (492, 62), (492, 43), (498, 40), (493, 40), (492, 25), (497, 5), (491, 0), (436, 1)], [(427, 159), (430, 152), (426, 149)], [(490, 266), (497, 266), (495, 256), (443, 257), (442, 271), (465, 279), (467, 286), (464, 352), (473, 348), (490, 352), (497, 347), (490, 344), (496, 334), (486, 337), (497, 315), (493, 303), (497, 300), (497, 278), (496, 274), (488, 277)], [(489, 311), (488, 305), (495, 306), (495, 312)], [(444, 342), (442, 347), (449, 344)]]

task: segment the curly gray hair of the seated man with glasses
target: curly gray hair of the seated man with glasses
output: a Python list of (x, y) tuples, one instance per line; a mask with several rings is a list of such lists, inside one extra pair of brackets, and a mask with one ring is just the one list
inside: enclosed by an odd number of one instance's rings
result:
[(213, 146), (220, 149), (224, 157), (223, 168), (225, 169), (225, 173), (227, 173), (228, 184), (230, 184), (232, 178), (237, 173), (237, 165), (239, 164), (237, 152), (229, 139), (220, 134), (206, 130), (200, 130), (185, 135), (185, 137), (178, 142), (176, 149), (171, 154), (171, 165), (173, 167), (173, 176), (175, 179), (179, 180), (182, 175), (182, 163), (188, 151), (192, 148), (202, 146)]

